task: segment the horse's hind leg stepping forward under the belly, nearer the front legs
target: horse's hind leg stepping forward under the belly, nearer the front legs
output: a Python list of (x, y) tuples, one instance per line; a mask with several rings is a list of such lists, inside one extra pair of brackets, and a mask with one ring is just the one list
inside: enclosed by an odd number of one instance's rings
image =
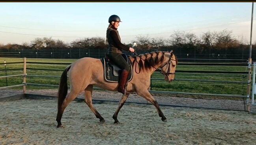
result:
[(84, 102), (89, 106), (89, 108), (92, 110), (92, 112), (95, 114), (97, 118), (99, 118), (100, 122), (105, 122), (105, 119), (101, 117), (101, 114), (97, 112), (97, 110), (93, 107), (92, 105), (92, 88), (93, 85), (89, 85), (86, 87), (85, 91), (85, 97), (84, 97)]

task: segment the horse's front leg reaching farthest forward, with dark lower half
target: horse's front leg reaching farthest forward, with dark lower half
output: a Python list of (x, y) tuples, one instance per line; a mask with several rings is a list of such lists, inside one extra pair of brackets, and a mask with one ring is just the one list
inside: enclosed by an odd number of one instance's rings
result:
[(167, 122), (166, 117), (164, 116), (164, 113), (161, 111), (157, 101), (155, 100), (155, 98), (149, 93), (148, 90), (138, 90), (136, 91), (138, 95), (142, 96), (143, 98), (145, 98), (146, 100), (148, 100), (149, 102), (151, 102), (155, 108), (157, 108), (157, 112), (159, 117), (161, 117), (162, 121)]

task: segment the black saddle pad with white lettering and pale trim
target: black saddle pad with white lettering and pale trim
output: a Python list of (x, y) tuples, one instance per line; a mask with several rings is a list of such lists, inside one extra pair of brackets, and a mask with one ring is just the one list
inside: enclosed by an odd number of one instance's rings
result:
[[(114, 75), (114, 68), (112, 65), (108, 64), (108, 61), (106, 58), (101, 59), (103, 63), (103, 69), (104, 69), (104, 78), (107, 82), (112, 82), (112, 83), (118, 83), (118, 77)], [(118, 74), (119, 75), (119, 74)], [(127, 78), (127, 82), (130, 82), (133, 78), (133, 67), (130, 65), (130, 71), (129, 71), (129, 76)]]

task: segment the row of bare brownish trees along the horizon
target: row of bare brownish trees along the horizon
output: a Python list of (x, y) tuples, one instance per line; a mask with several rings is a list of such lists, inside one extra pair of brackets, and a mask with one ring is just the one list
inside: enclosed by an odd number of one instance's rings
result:
[[(243, 38), (238, 40), (232, 34), (232, 31), (222, 30), (220, 32), (204, 32), (200, 36), (196, 36), (191, 32), (174, 31), (168, 38), (149, 37), (148, 35), (136, 36), (136, 49), (161, 49), (161, 48), (182, 48), (187, 50), (196, 50), (203, 52), (205, 50), (222, 50), (230, 48), (247, 47), (248, 43), (243, 42)], [(133, 41), (126, 44), (132, 47)], [(253, 43), (255, 48), (256, 41)], [(36, 38), (31, 43), (23, 43), (22, 45), (10, 44), (1, 45), (0, 50), (18, 50), (18, 49), (70, 49), (70, 48), (107, 48), (108, 44), (103, 37), (86, 37), (76, 39), (71, 43), (65, 43), (60, 39), (52, 39), (51, 37)]]

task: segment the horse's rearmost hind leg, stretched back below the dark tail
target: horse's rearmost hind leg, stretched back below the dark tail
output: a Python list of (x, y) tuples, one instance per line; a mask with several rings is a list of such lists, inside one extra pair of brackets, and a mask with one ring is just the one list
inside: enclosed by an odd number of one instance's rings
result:
[(74, 91), (70, 91), (70, 93), (67, 95), (67, 97), (64, 99), (64, 102), (62, 104), (62, 109), (60, 111), (60, 114), (58, 114), (56, 121), (58, 122), (58, 126), (57, 127), (62, 127), (62, 123), (61, 123), (61, 119), (62, 119), (62, 115), (63, 112), (65, 110), (65, 108), (67, 107), (67, 105), (73, 101), (76, 97), (77, 97), (78, 93), (74, 92)]

